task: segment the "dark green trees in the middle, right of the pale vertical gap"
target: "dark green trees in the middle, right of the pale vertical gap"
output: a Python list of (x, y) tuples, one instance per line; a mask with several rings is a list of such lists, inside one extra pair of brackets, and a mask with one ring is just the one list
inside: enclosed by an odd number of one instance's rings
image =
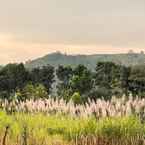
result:
[(57, 88), (59, 96), (72, 96), (75, 92), (84, 95), (92, 88), (92, 73), (85, 66), (78, 65), (73, 69), (59, 66), (56, 74), (60, 80)]

